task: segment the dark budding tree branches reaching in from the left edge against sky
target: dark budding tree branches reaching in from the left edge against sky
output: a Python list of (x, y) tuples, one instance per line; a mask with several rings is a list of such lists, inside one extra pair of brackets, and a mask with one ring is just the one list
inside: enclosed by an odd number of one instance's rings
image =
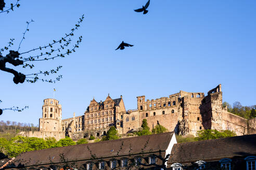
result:
[[(18, 4), (18, 2), (19, 0), (17, 0), (17, 3), (15, 5), (10, 4), (10, 8), (5, 10), (5, 2), (4, 0), (0, 0), (0, 13), (8, 13), (10, 10), (14, 10), (14, 7), (19, 7), (20, 4)], [(46, 77), (52, 74), (56, 74), (62, 66), (57, 66), (57, 68), (50, 70), (38, 70), (36, 72), (33, 71), (32, 73), (20, 73), (17, 71), (17, 69), (7, 67), (6, 64), (9, 63), (15, 67), (22, 66), (22, 69), (30, 68), (32, 70), (35, 67), (35, 62), (49, 61), (50, 59), (50, 61), (52, 61), (55, 58), (64, 58), (70, 53), (75, 52), (75, 50), (79, 48), (79, 44), (82, 41), (82, 36), (79, 36), (78, 40), (73, 44), (73, 47), (69, 48), (71, 45), (71, 37), (74, 36), (74, 31), (78, 30), (78, 27), (80, 26), (83, 19), (84, 15), (71, 29), (70, 33), (65, 34), (65, 36), (57, 40), (49, 41), (48, 45), (34, 47), (28, 51), (20, 51), (22, 41), (25, 39), (25, 34), (29, 32), (29, 25), (33, 22), (33, 20), (29, 22), (27, 21), (27, 27), (19, 43), (18, 50), (11, 50), (12, 46), (14, 45), (14, 39), (10, 39), (7, 46), (0, 48), (0, 70), (14, 75), (13, 81), (16, 84), (23, 82), (35, 83), (38, 80), (51, 83), (59, 81), (62, 78), (62, 75), (58, 75), (55, 80), (42, 78), (42, 76)], [(22, 72), (25, 72), (25, 70), (23, 70)], [(0, 100), (0, 103), (1, 102), (2, 101)], [(15, 106), (10, 108), (0, 108), (0, 115), (3, 114), (3, 110), (22, 111), (25, 108), (28, 108), (28, 106), (25, 106), (24, 108), (19, 108)]]

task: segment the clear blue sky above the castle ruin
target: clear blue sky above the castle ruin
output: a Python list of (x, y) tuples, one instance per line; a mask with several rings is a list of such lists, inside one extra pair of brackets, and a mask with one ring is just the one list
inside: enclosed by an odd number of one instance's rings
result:
[[(207, 94), (220, 83), (223, 101), (256, 104), (255, 0), (151, 0), (146, 15), (133, 11), (146, 2), (21, 0), (20, 8), (1, 13), (0, 47), (15, 38), (17, 50), (25, 22), (35, 21), (20, 52), (47, 45), (69, 33), (82, 14), (85, 19), (75, 32), (83, 36), (75, 53), (34, 63), (33, 73), (62, 65), (61, 81), (15, 84), (11, 74), (0, 72), (0, 107), (29, 106), (4, 111), (0, 120), (39, 124), (43, 100), (53, 97), (54, 88), (62, 118), (82, 115), (93, 97), (104, 101), (108, 93), (123, 95), (127, 110), (137, 108), (136, 96)], [(115, 51), (122, 40), (134, 46)]]

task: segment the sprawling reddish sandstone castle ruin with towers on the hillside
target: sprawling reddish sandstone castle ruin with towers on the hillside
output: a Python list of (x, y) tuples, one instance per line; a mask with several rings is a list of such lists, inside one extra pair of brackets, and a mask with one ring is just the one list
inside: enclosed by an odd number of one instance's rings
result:
[(145, 100), (137, 96), (137, 109), (126, 110), (123, 97), (112, 99), (109, 95), (104, 102), (94, 99), (84, 115), (73, 118), (61, 118), (61, 105), (52, 98), (44, 100), (42, 118), (39, 119), (39, 131), (21, 132), (28, 137), (55, 137), (57, 140), (70, 136), (73, 140), (87, 138), (90, 135), (106, 135), (111, 126), (116, 126), (119, 134), (137, 131), (143, 119), (147, 119), (152, 130), (158, 123), (170, 132), (180, 135), (196, 135), (205, 129), (231, 130), (237, 135), (255, 134), (256, 119), (247, 120), (222, 107), (221, 84), (210, 90), (207, 96), (202, 92), (185, 92), (168, 97)]

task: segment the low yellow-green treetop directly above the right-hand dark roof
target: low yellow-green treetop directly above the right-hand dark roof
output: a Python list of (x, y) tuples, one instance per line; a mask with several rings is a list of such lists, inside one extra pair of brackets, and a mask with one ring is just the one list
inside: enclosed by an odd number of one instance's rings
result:
[(225, 130), (225, 131), (217, 131), (217, 130), (202, 130), (197, 132), (196, 140), (209, 140), (209, 139), (217, 139), (217, 138), (223, 138), (223, 137), (232, 137), (236, 136), (236, 134), (232, 131)]

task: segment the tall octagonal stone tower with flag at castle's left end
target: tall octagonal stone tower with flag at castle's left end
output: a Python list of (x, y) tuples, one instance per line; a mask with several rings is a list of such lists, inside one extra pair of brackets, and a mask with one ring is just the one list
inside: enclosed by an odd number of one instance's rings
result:
[(47, 132), (61, 131), (61, 105), (53, 98), (44, 100), (42, 118), (39, 119), (39, 130)]

